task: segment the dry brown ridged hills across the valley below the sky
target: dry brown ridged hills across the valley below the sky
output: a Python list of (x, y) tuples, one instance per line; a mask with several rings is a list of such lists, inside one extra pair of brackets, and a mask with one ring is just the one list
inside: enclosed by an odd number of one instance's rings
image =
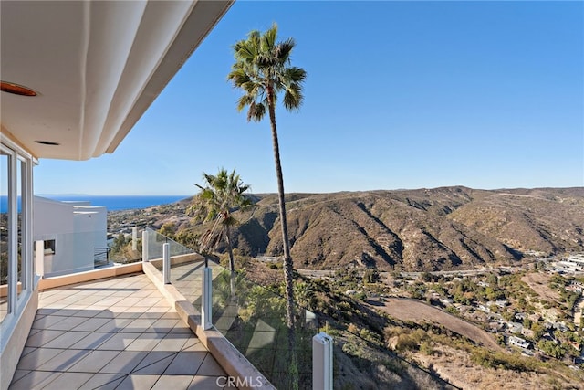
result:
[[(242, 224), (235, 246), (241, 255), (278, 256), (277, 196), (254, 199), (253, 210), (237, 213)], [(157, 227), (168, 222), (183, 237), (208, 228), (191, 226), (181, 211), (172, 215), (172, 207), (160, 208), (165, 211), (153, 218)], [(584, 251), (582, 187), (291, 194), (287, 218), (300, 269), (473, 269), (514, 264), (534, 252)]]

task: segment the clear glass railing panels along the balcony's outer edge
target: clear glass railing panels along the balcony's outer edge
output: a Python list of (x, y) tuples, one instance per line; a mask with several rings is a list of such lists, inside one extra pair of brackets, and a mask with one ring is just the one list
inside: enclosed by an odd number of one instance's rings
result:
[[(155, 232), (154, 232), (155, 233)], [(156, 235), (158, 235), (156, 233)], [(157, 245), (168, 242), (156, 237)], [(160, 235), (159, 235), (160, 236)], [(181, 248), (174, 253), (191, 250)], [(149, 258), (153, 258), (149, 256)], [(245, 271), (231, 276), (228, 269), (208, 261), (212, 269), (213, 324), (217, 331), (245, 355), (276, 388), (312, 388), (312, 338), (318, 332), (333, 337), (334, 388), (450, 389), (453, 385), (437, 374), (411, 364), (360, 334), (349, 332), (349, 323), (297, 306), (294, 352), (296, 369), (288, 350), (286, 299), (245, 278)], [(162, 271), (162, 264), (159, 266)], [(172, 264), (171, 281), (201, 311), (203, 260)], [(297, 374), (294, 374), (297, 373)]]

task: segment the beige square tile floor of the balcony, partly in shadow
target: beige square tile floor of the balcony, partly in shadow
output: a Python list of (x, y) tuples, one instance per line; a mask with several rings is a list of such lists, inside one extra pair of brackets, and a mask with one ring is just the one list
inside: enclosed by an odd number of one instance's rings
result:
[(138, 274), (42, 291), (9, 388), (212, 390), (225, 375)]

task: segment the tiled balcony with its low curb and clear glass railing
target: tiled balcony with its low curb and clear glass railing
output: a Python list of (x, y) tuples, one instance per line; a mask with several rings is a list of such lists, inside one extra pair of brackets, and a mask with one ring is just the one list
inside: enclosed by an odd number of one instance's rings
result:
[(205, 320), (203, 257), (150, 229), (140, 247), (146, 261), (39, 281), (11, 389), (320, 388), (315, 378), (326, 373), (313, 361), (312, 340), (320, 332), (333, 335), (334, 388), (454, 388), (352, 334), (348, 324), (304, 308), (297, 310), (292, 369), (284, 298), (209, 262), (212, 315)]

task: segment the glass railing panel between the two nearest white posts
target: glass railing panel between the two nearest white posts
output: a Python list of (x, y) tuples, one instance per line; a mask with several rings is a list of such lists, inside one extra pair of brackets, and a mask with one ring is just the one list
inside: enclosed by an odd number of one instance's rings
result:
[(297, 311), (301, 315), (297, 316), (294, 369), (288, 348), (286, 299), (245, 279), (243, 272), (232, 278), (228, 269), (216, 265), (212, 286), (214, 327), (276, 388), (293, 388), (293, 383), (300, 389), (312, 388), (316, 314)]

